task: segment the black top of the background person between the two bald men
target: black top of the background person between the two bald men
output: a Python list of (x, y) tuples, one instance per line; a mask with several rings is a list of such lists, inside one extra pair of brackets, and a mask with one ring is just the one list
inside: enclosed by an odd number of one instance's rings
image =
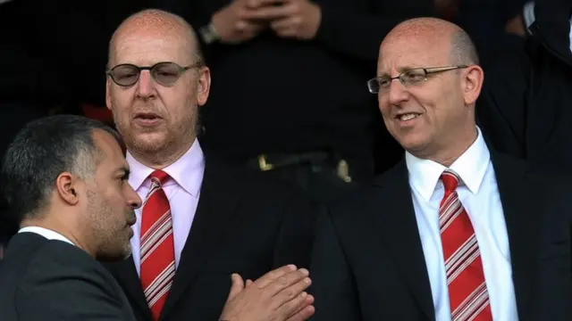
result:
[[(366, 81), (379, 45), (407, 18), (433, 13), (433, 1), (317, 0), (322, 24), (312, 41), (270, 31), (240, 45), (208, 45), (212, 89), (200, 109), (206, 149), (236, 161), (262, 152), (371, 148), (379, 111)], [(195, 29), (225, 0), (172, 1), (167, 9)], [(369, 152), (369, 150), (368, 150)]]

